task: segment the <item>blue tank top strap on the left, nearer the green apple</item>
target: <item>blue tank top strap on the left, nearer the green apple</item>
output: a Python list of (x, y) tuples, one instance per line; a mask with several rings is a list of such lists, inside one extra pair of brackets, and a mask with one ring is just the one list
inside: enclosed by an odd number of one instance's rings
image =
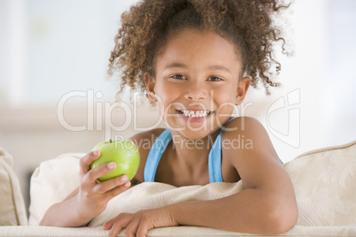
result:
[(162, 134), (159, 134), (159, 137), (154, 141), (147, 157), (146, 164), (144, 165), (143, 179), (145, 182), (154, 182), (160, 157), (162, 157), (163, 152), (166, 150), (166, 146), (171, 140), (171, 131), (166, 129)]

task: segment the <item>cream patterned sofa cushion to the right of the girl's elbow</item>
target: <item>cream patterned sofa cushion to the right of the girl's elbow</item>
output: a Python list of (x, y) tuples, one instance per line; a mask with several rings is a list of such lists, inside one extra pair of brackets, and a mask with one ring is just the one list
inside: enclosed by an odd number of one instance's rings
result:
[(303, 154), (288, 164), (299, 226), (356, 226), (356, 141)]

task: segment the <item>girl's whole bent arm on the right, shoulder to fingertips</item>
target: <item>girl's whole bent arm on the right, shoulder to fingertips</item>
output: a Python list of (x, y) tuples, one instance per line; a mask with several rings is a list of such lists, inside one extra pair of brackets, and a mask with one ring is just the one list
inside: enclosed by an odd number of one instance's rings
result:
[[(144, 236), (160, 226), (207, 226), (241, 233), (277, 234), (294, 226), (298, 206), (289, 174), (275, 153), (266, 130), (251, 118), (232, 120), (222, 140), (243, 138), (252, 141), (252, 149), (223, 146), (224, 162), (236, 167), (245, 189), (236, 195), (211, 201), (176, 203), (156, 210), (120, 214), (104, 225), (115, 236), (126, 233)], [(228, 142), (227, 142), (228, 143)], [(225, 143), (225, 144), (227, 144)], [(233, 142), (230, 142), (234, 144)], [(236, 143), (235, 143), (236, 144)], [(225, 160), (227, 158), (227, 160)]]

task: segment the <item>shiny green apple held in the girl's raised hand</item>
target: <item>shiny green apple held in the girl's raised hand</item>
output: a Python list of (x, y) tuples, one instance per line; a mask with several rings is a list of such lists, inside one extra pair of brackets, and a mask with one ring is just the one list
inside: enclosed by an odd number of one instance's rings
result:
[(90, 169), (100, 165), (115, 162), (116, 168), (112, 172), (104, 174), (99, 181), (110, 180), (123, 174), (128, 175), (128, 180), (134, 178), (140, 164), (140, 153), (131, 141), (104, 141), (93, 150), (100, 150), (100, 157), (90, 164)]

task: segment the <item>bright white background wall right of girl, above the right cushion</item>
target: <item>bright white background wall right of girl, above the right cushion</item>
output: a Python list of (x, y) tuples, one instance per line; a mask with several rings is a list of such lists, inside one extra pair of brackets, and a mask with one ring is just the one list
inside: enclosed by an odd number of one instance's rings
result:
[[(267, 98), (263, 93), (248, 98), (265, 104), (252, 111), (260, 112), (283, 161), (356, 139), (355, 12), (352, 0), (296, 0), (286, 12), (283, 24), (294, 56), (278, 54), (282, 89)], [(286, 106), (274, 111), (281, 96)], [(288, 96), (296, 104), (287, 106)]]

